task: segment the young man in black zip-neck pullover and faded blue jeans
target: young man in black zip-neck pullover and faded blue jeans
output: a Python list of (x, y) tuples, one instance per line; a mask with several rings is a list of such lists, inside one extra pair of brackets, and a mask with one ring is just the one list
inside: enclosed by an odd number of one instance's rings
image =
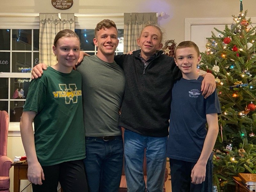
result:
[[(181, 77), (181, 72), (173, 57), (158, 51), (163, 46), (161, 42), (160, 28), (149, 25), (137, 40), (141, 50), (132, 52), (132, 55), (115, 56), (116, 63), (123, 67), (125, 75), (125, 92), (118, 124), (125, 128), (125, 175), (129, 192), (145, 191), (142, 170), (144, 149), (147, 191), (163, 191), (172, 86)], [(206, 76), (205, 79), (210, 79), (204, 86), (204, 92), (208, 90), (207, 97), (216, 85), (212, 74)]]

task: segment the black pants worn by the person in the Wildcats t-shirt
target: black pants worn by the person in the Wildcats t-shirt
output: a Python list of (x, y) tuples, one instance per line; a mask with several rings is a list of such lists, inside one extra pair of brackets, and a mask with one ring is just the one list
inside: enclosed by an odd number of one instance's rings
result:
[(64, 192), (88, 192), (83, 160), (42, 166), (42, 185), (32, 184), (33, 192), (57, 192), (58, 182)]

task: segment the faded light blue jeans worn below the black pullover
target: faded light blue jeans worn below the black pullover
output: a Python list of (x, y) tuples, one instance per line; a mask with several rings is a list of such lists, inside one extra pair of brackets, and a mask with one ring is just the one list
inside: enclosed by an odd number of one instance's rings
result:
[(124, 172), (129, 192), (145, 191), (144, 149), (147, 159), (147, 191), (163, 192), (167, 137), (148, 137), (125, 129)]

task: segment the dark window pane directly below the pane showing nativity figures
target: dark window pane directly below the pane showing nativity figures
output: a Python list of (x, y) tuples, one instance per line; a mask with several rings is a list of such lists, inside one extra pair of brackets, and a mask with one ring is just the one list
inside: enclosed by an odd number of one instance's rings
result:
[(25, 101), (10, 101), (10, 122), (20, 122)]

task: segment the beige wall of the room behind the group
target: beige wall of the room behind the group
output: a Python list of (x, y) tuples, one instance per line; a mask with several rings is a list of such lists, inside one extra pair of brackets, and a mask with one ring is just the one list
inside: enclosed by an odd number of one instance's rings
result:
[[(239, 0), (73, 0), (68, 10), (55, 9), (51, 0), (1, 0), (0, 12), (39, 13), (39, 12), (73, 12), (73, 13), (123, 13), (123, 12), (166, 12), (159, 18), (159, 25), (164, 32), (164, 40), (175, 39), (176, 43), (184, 40), (185, 18), (231, 17), (240, 11)], [(244, 0), (244, 10), (248, 16), (256, 16), (256, 1)], [(24, 149), (20, 137), (8, 137), (8, 156), (22, 156)], [(13, 168), (11, 175), (11, 191)], [(21, 188), (28, 182), (22, 181)], [(31, 191), (30, 189), (24, 190)]]

